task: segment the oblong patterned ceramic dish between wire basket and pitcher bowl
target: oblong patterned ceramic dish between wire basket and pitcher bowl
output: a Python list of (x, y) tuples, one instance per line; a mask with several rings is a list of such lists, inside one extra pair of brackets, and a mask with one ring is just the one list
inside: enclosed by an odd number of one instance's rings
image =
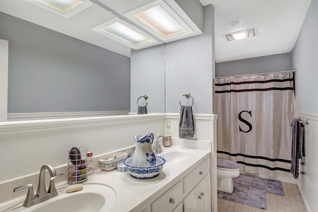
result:
[(128, 153), (116, 152), (99, 158), (99, 165), (102, 170), (110, 171), (117, 167), (118, 163), (122, 163), (127, 158)]

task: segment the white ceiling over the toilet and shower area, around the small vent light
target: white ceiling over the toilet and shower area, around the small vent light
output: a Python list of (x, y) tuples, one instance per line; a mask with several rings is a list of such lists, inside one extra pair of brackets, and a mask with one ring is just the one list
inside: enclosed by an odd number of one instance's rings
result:
[[(201, 0), (215, 11), (216, 63), (291, 52), (311, 0)], [(231, 26), (233, 21), (239, 24)], [(255, 36), (228, 41), (226, 34), (254, 29)]]

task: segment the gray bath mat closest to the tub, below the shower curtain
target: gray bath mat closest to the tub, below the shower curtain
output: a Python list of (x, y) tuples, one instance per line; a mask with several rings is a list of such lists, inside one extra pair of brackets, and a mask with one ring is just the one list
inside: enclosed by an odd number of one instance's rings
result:
[(257, 176), (240, 174), (239, 177), (233, 178), (233, 182), (253, 188), (264, 189), (268, 193), (285, 195), (282, 182), (278, 180), (270, 180)]

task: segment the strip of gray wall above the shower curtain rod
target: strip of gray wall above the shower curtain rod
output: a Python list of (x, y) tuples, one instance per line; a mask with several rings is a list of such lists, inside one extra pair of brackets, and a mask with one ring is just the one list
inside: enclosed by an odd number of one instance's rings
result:
[(215, 65), (215, 76), (234, 76), (289, 70), (292, 70), (292, 53), (284, 53), (217, 63)]

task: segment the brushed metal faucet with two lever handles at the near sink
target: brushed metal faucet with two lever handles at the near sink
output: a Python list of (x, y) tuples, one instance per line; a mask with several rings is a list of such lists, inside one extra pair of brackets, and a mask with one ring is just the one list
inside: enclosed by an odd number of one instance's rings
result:
[[(46, 190), (46, 185), (45, 185), (45, 170), (48, 170), (48, 172), (50, 173), (51, 182), (50, 182), (48, 190)], [(23, 203), (23, 206), (28, 208), (38, 203), (47, 201), (51, 199), (52, 197), (58, 196), (58, 192), (56, 191), (54, 180), (62, 176), (64, 176), (64, 174), (56, 175), (56, 171), (54, 167), (50, 164), (46, 164), (46, 165), (43, 165), (40, 170), (39, 185), (36, 191), (36, 195), (34, 195), (32, 184), (27, 184), (24, 186), (19, 186), (17, 188), (14, 188), (13, 192), (19, 191), (24, 188), (28, 188), (28, 193)]]

